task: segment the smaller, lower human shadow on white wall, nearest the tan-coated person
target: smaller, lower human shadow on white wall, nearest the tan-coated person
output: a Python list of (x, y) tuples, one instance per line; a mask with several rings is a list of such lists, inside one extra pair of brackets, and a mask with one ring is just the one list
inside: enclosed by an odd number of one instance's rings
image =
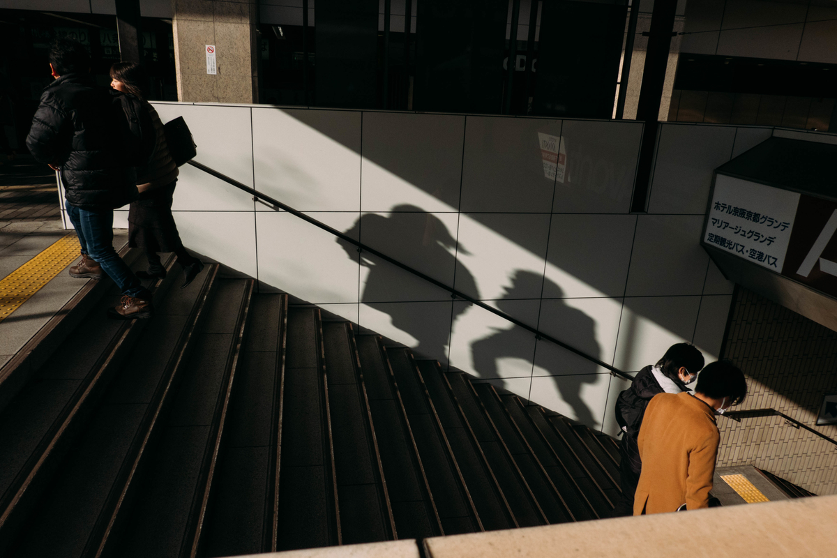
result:
[[(549, 279), (543, 279), (541, 274), (518, 270), (511, 279), (511, 287), (506, 287), (506, 294), (502, 299), (497, 301), (497, 308), (506, 312), (508, 315), (514, 315), (515, 308), (511, 301), (521, 299), (526, 296), (526, 293), (531, 293), (532, 289), (535, 292), (540, 290), (542, 280), (546, 282), (544, 289), (551, 289), (550, 292), (557, 293), (558, 297), (563, 294), (557, 284)], [(573, 330), (573, 338), (576, 340), (574, 343), (575, 348), (583, 351), (588, 356), (599, 358), (599, 348), (595, 333), (596, 324), (592, 318), (584, 314), (581, 310), (567, 306), (562, 302), (550, 305), (548, 311), (550, 315), (542, 315), (541, 323), (548, 320), (554, 324), (566, 324), (568, 328)], [(474, 367), (480, 373), (480, 377), (499, 379), (500, 383), (497, 381), (492, 381), (492, 383), (500, 387), (505, 387), (505, 382), (502, 381), (498, 373), (497, 361), (501, 358), (518, 358), (533, 362), (535, 355), (533, 354), (531, 345), (521, 343), (521, 339), (525, 339), (528, 335), (531, 335), (531, 332), (524, 330), (519, 325), (514, 325), (510, 329), (497, 330), (494, 335), (489, 335), (488, 337), (474, 341), (471, 344), (471, 356), (474, 361)], [(541, 341), (538, 347), (542, 347), (547, 343), (550, 342)], [(571, 356), (569, 351), (562, 352), (566, 352), (567, 356)], [(598, 424), (598, 420), (593, 418), (593, 412), (590, 410), (590, 407), (581, 398), (583, 384), (598, 381), (598, 368), (596, 364), (587, 359), (573, 358), (572, 362), (572, 370), (567, 370), (567, 365), (558, 360), (538, 359), (537, 364), (552, 376), (552, 380), (557, 387), (557, 392), (567, 405), (573, 407), (576, 420), (588, 425)], [(533, 398), (531, 394), (529, 397)], [(537, 397), (533, 399), (537, 400)]]

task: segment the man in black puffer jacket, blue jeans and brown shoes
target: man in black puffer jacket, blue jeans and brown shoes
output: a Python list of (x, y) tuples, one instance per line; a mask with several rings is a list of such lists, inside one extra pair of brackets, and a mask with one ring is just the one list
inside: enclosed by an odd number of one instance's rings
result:
[[(118, 104), (90, 78), (90, 55), (69, 38), (58, 38), (49, 51), (55, 81), (41, 95), (26, 145), (37, 161), (59, 171), (66, 208), (79, 235), (81, 263), (69, 269), (78, 278), (110, 276), (122, 300), (110, 317), (150, 318), (151, 291), (142, 286), (113, 248), (113, 210), (136, 197), (136, 173), (120, 152)], [(116, 107), (116, 108), (115, 108)]]

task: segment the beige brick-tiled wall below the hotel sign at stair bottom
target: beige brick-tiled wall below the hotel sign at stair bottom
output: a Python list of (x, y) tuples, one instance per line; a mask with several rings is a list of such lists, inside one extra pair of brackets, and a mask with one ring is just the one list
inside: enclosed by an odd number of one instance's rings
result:
[[(736, 409), (773, 408), (816, 426), (826, 393), (837, 393), (837, 332), (739, 287), (724, 356), (747, 375)], [(782, 417), (720, 418), (718, 467), (755, 465), (814, 494), (837, 494), (837, 447)]]

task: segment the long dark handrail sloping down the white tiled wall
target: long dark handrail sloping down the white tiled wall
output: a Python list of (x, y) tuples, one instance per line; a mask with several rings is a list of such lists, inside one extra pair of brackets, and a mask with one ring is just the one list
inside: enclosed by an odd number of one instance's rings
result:
[(633, 376), (630, 376), (626, 372), (619, 370), (619, 368), (616, 368), (615, 366), (611, 366), (606, 362), (600, 361), (595, 356), (590, 356), (590, 355), (584, 353), (583, 351), (579, 351), (575, 347), (569, 346), (566, 343), (564, 343), (563, 341), (559, 341), (559, 340), (555, 339), (554, 337), (552, 337), (552, 335), (547, 335), (547, 334), (543, 333), (542, 331), (537, 330), (534, 327), (531, 327), (531, 325), (526, 325), (523, 322), (521, 322), (521, 320), (517, 320), (516, 318), (511, 317), (510, 315), (506, 314), (502, 310), (497, 310), (496, 308), (493, 308), (489, 305), (486, 305), (485, 302), (482, 302), (481, 300), (473, 299), (470, 296), (468, 296), (467, 294), (462, 293), (461, 291), (459, 291), (457, 289), (454, 289), (453, 287), (449, 287), (448, 285), (446, 285), (444, 283), (441, 283), (440, 281), (438, 281), (436, 279), (433, 279), (432, 277), (429, 277), (429, 275), (423, 274), (418, 269), (413, 269), (413, 268), (409, 267), (407, 264), (402, 264), (397, 259), (390, 258), (388, 255), (378, 252), (374, 248), (369, 248), (366, 244), (361, 243), (361, 242), (355, 240), (354, 238), (351, 238), (351, 237), (347, 236), (344, 233), (341, 233), (336, 228), (331, 228), (328, 225), (326, 225), (326, 223), (321, 223), (320, 221), (317, 221), (315, 218), (312, 218), (311, 216), (306, 215), (303, 212), (297, 211), (293, 207), (285, 205), (285, 203), (279, 202), (278, 200), (275, 200), (274, 198), (272, 198), (270, 196), (267, 196), (262, 192), (257, 192), (253, 188), (242, 184), (241, 182), (235, 180), (234, 178), (230, 178), (230, 177), (228, 177), (228, 176), (226, 176), (226, 175), (224, 175), (224, 174), (222, 174), (222, 173), (220, 173), (220, 172), (218, 172), (218, 171), (216, 171), (212, 168), (209, 168), (206, 165), (203, 165), (202, 163), (199, 163), (198, 161), (188, 161), (188, 164), (194, 166), (195, 168), (200, 169), (201, 171), (206, 172), (207, 174), (212, 175), (213, 177), (216, 177), (220, 180), (223, 180), (223, 182), (227, 182), (231, 186), (239, 188), (239, 190), (244, 190), (244, 192), (247, 192), (254, 197), (254, 201), (260, 201), (260, 202), (266, 203), (267, 205), (269, 205), (270, 207), (273, 207), (277, 211), (282, 210), (282, 211), (285, 211), (285, 212), (289, 212), (291, 215), (294, 215), (295, 217), (303, 219), (304, 221), (306, 221), (308, 223), (311, 223), (315, 227), (321, 228), (322, 230), (326, 231), (327, 233), (333, 234), (337, 238), (340, 238), (341, 240), (344, 240), (347, 243), (351, 243), (351, 244), (357, 246), (357, 251), (358, 252), (371, 253), (372, 255), (377, 256), (378, 258), (383, 259), (384, 261), (386, 261), (390, 264), (393, 264), (393, 265), (397, 266), (398, 268), (403, 269), (404, 271), (408, 271), (409, 273), (415, 275), (416, 277), (419, 277), (421, 279), (424, 279), (425, 281), (428, 281), (429, 283), (432, 283), (432, 284), (436, 285), (437, 287), (439, 287), (439, 289), (443, 289), (443, 290), (448, 291), (451, 295), (451, 298), (454, 298), (454, 299), (460, 298), (460, 299), (463, 299), (463, 300), (467, 300), (472, 305), (477, 305), (480, 308), (482, 308), (483, 310), (488, 310), (490, 313), (492, 313), (494, 315), (498, 315), (501, 318), (503, 318), (504, 320), (508, 320), (512, 324), (517, 325), (518, 327), (521, 327), (524, 330), (535, 334), (536, 339), (539, 339), (539, 340), (544, 339), (544, 340), (550, 341), (551, 343), (554, 343), (557, 346), (560, 346), (564, 349), (567, 349), (567, 351), (573, 352), (576, 355), (581, 356), (581, 357), (587, 359), (588, 361), (591, 361), (591, 362), (595, 363), (598, 366), (602, 366), (603, 368), (606, 368), (608, 371), (610, 371), (612, 374), (614, 374), (616, 376), (621, 376), (626, 380), (631, 380), (631, 381), (634, 380)]

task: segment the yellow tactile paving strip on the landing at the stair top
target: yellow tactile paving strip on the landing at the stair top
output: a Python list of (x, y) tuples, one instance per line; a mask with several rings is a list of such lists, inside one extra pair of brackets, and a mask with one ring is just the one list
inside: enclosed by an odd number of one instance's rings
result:
[(79, 257), (79, 238), (68, 234), (0, 280), (0, 321)]

